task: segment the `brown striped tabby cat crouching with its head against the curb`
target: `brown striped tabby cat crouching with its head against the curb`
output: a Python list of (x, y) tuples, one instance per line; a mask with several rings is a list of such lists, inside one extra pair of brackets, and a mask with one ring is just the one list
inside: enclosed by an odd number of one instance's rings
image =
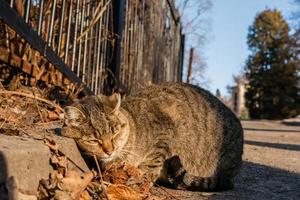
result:
[(216, 97), (183, 83), (152, 85), (122, 101), (86, 97), (65, 111), (62, 134), (106, 165), (135, 164), (177, 189), (233, 187), (242, 164), (243, 129)]

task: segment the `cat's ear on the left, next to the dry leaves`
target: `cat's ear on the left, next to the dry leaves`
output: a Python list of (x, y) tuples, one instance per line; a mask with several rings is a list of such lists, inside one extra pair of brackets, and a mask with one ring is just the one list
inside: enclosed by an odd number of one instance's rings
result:
[(85, 114), (74, 106), (64, 108), (64, 118), (67, 126), (79, 126), (86, 119)]

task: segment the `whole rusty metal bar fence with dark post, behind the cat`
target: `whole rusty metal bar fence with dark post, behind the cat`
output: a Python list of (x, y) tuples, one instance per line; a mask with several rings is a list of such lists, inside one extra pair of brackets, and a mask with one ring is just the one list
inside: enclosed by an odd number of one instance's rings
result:
[(94, 94), (116, 83), (130, 90), (181, 81), (184, 43), (172, 0), (0, 0), (0, 20)]

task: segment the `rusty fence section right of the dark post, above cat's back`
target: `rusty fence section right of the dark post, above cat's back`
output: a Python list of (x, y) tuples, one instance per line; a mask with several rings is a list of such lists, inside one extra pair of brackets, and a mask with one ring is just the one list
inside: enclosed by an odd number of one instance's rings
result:
[(181, 81), (179, 14), (169, 0), (126, 1), (120, 80), (128, 88)]

